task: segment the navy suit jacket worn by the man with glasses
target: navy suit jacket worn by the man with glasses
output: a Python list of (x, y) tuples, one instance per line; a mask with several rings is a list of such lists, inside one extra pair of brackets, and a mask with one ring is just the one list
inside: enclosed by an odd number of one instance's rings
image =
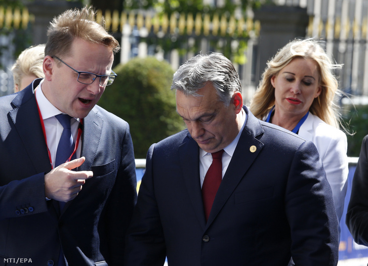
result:
[(60, 244), (69, 266), (121, 265), (136, 201), (129, 125), (98, 106), (84, 119), (78, 170), (93, 178), (60, 214), (45, 198), (51, 165), (33, 93), (39, 81), (0, 98), (0, 265), (56, 265)]

